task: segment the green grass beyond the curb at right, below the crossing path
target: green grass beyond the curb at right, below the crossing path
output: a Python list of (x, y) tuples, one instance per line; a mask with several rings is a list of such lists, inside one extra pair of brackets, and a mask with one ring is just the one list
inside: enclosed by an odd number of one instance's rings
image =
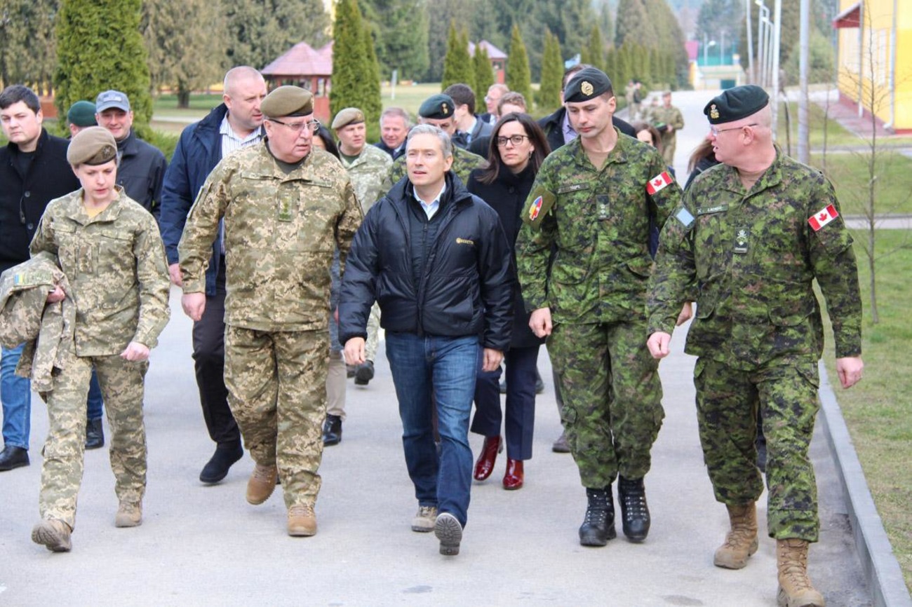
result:
[[(856, 237), (856, 241), (858, 238)], [(849, 390), (839, 386), (832, 340), (824, 355), (827, 372), (865, 470), (865, 478), (893, 545), (906, 585), (912, 589), (912, 416), (909, 395), (908, 277), (912, 276), (912, 233), (876, 231), (877, 310), (880, 322), (871, 321), (870, 272), (858, 242), (859, 280), (865, 304), (863, 339), (864, 378)]]

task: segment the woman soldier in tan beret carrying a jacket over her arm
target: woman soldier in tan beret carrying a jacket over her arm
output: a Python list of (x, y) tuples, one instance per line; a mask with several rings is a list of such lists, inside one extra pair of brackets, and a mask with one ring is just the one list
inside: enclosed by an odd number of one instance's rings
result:
[(32, 540), (48, 550), (70, 550), (82, 480), (86, 395), (92, 369), (111, 429), (110, 462), (116, 479), (117, 527), (142, 520), (146, 489), (144, 378), (150, 348), (168, 323), (170, 282), (159, 229), (149, 211), (115, 185), (117, 142), (101, 127), (80, 131), (67, 161), (76, 190), (51, 201), (31, 252), (56, 255), (69, 293), (57, 286), (48, 302), (76, 305), (72, 344), (57, 353), (47, 401), (49, 429), (41, 470), (41, 522)]

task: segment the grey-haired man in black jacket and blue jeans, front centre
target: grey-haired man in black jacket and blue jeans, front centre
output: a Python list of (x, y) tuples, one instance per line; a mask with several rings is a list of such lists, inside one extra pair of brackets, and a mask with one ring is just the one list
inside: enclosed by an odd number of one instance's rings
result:
[(514, 276), (497, 213), (453, 177), (450, 137), (419, 125), (409, 132), (406, 159), (408, 179), (370, 209), (355, 236), (339, 337), (347, 363), (363, 363), (368, 314), (378, 301), (419, 503), (411, 528), (434, 530), (440, 553), (454, 555), (472, 487), (475, 374), (479, 360), (485, 371), (497, 368), (510, 345)]

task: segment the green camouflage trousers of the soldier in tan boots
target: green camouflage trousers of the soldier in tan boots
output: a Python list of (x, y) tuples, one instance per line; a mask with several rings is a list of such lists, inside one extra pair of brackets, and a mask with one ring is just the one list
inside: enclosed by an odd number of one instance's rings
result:
[(716, 499), (731, 506), (760, 499), (763, 479), (754, 447), (759, 413), (770, 537), (817, 541), (817, 484), (808, 457), (820, 408), (816, 361), (740, 371), (703, 357), (694, 385), (703, 460)]

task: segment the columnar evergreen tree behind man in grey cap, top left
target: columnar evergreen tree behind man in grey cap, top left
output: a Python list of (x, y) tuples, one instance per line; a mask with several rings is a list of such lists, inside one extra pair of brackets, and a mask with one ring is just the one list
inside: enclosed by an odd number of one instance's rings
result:
[(133, 126), (150, 135), (149, 64), (140, 34), (141, 0), (62, 0), (57, 14), (55, 104), (60, 116), (80, 99), (126, 93)]

